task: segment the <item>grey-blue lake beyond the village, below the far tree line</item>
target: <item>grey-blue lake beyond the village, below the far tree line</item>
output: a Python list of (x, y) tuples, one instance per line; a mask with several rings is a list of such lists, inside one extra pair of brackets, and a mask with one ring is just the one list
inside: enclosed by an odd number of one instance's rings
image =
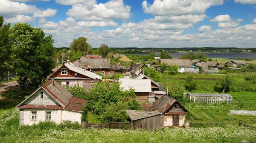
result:
[[(194, 52), (197, 53), (197, 52)], [(155, 53), (156, 56), (159, 56), (160, 53)], [(187, 52), (180, 53), (169, 53), (172, 58), (179, 58), (181, 55), (187, 54)], [(207, 52), (204, 53), (208, 58), (225, 58), (225, 59), (236, 59), (236, 58), (249, 58), (256, 60), (256, 53), (218, 53), (218, 52)], [(131, 53), (131, 55), (145, 55), (148, 56), (149, 53)]]

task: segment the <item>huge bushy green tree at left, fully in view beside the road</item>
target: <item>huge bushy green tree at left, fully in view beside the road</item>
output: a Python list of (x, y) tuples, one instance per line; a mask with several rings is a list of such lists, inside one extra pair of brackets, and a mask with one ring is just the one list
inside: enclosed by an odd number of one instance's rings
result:
[(17, 23), (9, 34), (15, 72), (21, 85), (38, 86), (55, 67), (55, 48), (52, 36), (41, 28)]

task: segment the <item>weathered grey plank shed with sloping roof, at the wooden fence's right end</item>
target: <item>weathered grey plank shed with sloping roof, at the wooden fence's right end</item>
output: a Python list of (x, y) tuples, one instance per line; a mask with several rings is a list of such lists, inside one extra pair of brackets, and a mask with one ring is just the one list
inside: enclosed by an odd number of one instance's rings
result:
[(163, 114), (157, 110), (154, 111), (137, 111), (125, 110), (131, 118), (134, 129), (148, 129), (154, 131), (163, 127)]

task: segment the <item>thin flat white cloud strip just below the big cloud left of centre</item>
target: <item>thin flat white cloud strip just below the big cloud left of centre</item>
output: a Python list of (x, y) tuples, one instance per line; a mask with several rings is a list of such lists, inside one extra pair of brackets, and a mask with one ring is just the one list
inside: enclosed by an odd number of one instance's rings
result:
[(96, 27), (96, 26), (118, 26), (118, 23), (113, 21), (79, 21), (78, 25), (81, 27)]

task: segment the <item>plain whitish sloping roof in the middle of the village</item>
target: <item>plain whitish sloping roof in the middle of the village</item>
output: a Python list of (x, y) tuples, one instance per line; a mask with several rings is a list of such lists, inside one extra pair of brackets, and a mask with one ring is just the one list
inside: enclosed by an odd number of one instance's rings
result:
[(132, 87), (135, 92), (151, 93), (150, 79), (119, 79), (119, 83), (123, 90), (129, 90)]

